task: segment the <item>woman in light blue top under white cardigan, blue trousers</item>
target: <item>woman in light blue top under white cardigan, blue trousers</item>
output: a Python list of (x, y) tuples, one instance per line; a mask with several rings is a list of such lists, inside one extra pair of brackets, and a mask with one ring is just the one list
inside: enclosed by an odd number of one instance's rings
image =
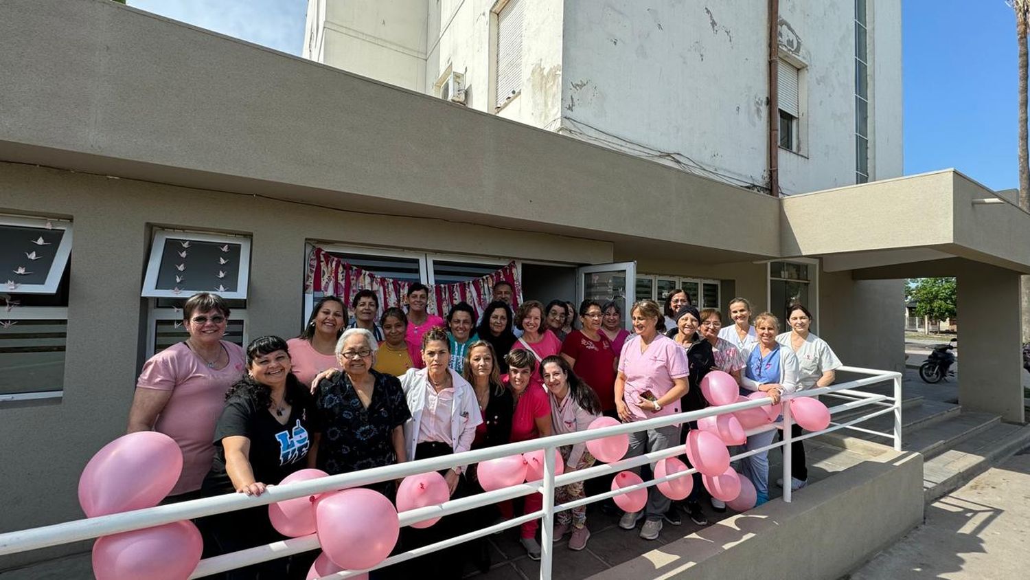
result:
[[(768, 312), (762, 312), (755, 317), (755, 334), (758, 342), (746, 352), (748, 362), (741, 377), (741, 391), (760, 390), (769, 396), (772, 403), (779, 403), (785, 393), (793, 393), (797, 388), (798, 365), (797, 356), (790, 348), (781, 347), (776, 337), (780, 332), (780, 320)], [(758, 449), (772, 443), (776, 430), (748, 437), (748, 450)], [(755, 485), (758, 492), (758, 504), (762, 505), (769, 499), (768, 450), (756, 453), (744, 459), (744, 475)]]

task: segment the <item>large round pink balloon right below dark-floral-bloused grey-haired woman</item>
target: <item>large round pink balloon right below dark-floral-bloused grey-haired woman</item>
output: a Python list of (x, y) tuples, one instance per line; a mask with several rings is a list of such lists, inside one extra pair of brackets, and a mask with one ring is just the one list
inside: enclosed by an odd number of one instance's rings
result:
[(393, 504), (362, 487), (318, 498), (315, 522), (322, 551), (347, 570), (372, 568), (385, 559), (401, 534)]

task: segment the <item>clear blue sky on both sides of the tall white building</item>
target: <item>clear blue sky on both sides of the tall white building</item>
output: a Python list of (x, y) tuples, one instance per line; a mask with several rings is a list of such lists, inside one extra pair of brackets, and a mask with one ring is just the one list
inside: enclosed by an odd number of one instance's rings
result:
[[(129, 0), (300, 55), (306, 0)], [(903, 0), (904, 172), (954, 167), (1018, 186), (1016, 19), (1004, 0)]]

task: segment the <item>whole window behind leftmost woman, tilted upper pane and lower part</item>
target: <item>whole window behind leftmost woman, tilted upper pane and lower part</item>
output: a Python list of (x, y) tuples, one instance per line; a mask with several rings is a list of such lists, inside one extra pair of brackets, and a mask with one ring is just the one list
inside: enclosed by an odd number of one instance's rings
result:
[(157, 230), (140, 293), (147, 301), (146, 356), (185, 340), (182, 306), (199, 292), (229, 304), (224, 340), (247, 344), (250, 238), (229, 234)]

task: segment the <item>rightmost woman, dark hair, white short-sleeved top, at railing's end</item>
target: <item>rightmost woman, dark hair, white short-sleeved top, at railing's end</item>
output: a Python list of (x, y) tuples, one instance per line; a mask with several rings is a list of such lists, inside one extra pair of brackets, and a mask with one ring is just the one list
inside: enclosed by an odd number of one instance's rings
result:
[[(825, 340), (809, 332), (809, 327), (812, 326), (812, 313), (809, 312), (809, 309), (800, 304), (792, 304), (787, 309), (787, 323), (790, 325), (790, 332), (776, 337), (776, 341), (789, 347), (797, 356), (799, 370), (797, 389), (804, 390), (833, 384), (833, 381), (836, 380), (834, 371), (843, 365)], [(802, 435), (801, 427), (792, 423), (790, 433), (792, 437), (800, 437)], [(782, 432), (780, 440), (783, 441)], [(790, 487), (791, 489), (800, 489), (809, 483), (804, 441), (794, 441), (790, 448)], [(777, 483), (783, 487), (783, 478), (780, 478)]]

